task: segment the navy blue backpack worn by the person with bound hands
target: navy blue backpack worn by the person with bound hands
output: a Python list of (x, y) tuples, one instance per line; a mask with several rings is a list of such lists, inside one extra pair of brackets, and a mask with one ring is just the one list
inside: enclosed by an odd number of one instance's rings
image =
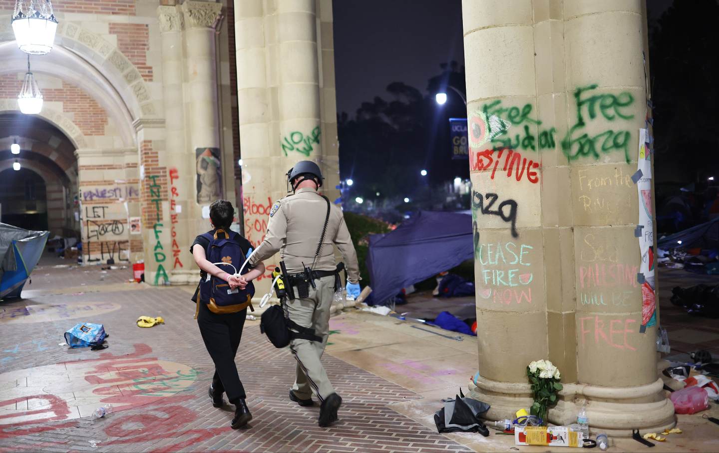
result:
[[(238, 273), (244, 263), (245, 253), (249, 253), (249, 250), (242, 250), (239, 234), (217, 229), (214, 234), (204, 233), (202, 236), (210, 242), (205, 250), (207, 260), (230, 275)], [(247, 283), (244, 289), (231, 289), (225, 280), (207, 274), (206, 278), (200, 280), (198, 303), (205, 303), (216, 314), (237, 313), (248, 306), (255, 311), (252, 296), (255, 296), (255, 285), (252, 282)]]

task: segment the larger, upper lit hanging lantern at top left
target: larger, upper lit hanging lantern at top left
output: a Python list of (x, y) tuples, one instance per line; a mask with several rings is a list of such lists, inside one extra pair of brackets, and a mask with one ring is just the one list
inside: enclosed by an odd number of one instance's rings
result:
[(15, 0), (12, 31), (20, 50), (32, 55), (50, 52), (57, 30), (50, 0)]

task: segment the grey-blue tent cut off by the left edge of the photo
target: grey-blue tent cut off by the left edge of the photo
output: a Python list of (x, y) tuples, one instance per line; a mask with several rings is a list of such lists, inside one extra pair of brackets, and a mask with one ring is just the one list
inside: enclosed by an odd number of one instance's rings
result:
[(0, 224), (0, 299), (20, 297), (49, 234)]

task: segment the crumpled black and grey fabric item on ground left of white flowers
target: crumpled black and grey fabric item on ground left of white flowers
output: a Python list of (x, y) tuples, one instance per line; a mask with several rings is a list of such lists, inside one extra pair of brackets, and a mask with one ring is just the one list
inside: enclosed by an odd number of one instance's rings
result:
[(439, 433), (475, 432), (486, 437), (490, 435), (490, 431), (480, 418), (480, 414), (489, 409), (489, 404), (474, 398), (466, 398), (462, 389), (459, 389), (459, 395), (454, 399), (446, 399), (444, 407), (434, 413), (434, 424)]

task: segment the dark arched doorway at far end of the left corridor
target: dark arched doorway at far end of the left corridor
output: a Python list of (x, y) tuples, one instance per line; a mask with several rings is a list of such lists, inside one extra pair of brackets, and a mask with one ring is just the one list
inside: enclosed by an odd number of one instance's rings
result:
[(0, 172), (0, 221), (24, 229), (47, 229), (45, 180), (32, 170)]

